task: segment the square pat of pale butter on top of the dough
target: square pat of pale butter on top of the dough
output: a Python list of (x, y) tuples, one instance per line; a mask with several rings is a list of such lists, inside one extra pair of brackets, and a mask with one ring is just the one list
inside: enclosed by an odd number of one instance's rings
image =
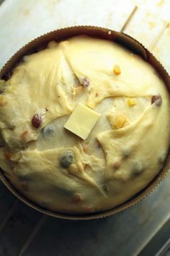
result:
[(79, 103), (74, 109), (71, 116), (66, 121), (64, 128), (78, 135), (82, 139), (86, 139), (91, 129), (97, 123), (100, 114), (91, 108)]

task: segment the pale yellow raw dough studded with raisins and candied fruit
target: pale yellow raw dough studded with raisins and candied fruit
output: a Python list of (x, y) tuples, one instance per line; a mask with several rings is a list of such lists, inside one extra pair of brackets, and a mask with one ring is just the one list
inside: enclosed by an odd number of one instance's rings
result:
[[(160, 171), (169, 150), (169, 94), (153, 67), (122, 46), (83, 35), (50, 42), (24, 56), (1, 86), (0, 166), (42, 208), (114, 208)], [(151, 104), (158, 94), (161, 106)], [(100, 115), (86, 140), (64, 128), (77, 103)], [(32, 125), (35, 114), (40, 127)], [(62, 166), (66, 153), (72, 162)]]

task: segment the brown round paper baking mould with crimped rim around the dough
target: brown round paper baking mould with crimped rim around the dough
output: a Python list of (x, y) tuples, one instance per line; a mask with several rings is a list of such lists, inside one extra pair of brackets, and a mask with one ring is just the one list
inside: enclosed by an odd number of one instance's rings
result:
[[(42, 50), (48, 46), (48, 42), (50, 40), (61, 41), (66, 40), (67, 38), (71, 38), (76, 35), (89, 35), (94, 38), (103, 38), (107, 40), (114, 41), (115, 43), (119, 43), (120, 45), (124, 46), (125, 48), (129, 48), (130, 51), (133, 53), (138, 54), (141, 56), (145, 61), (148, 61), (158, 72), (161, 79), (164, 80), (166, 88), (169, 90), (170, 93), (170, 77), (169, 74), (166, 72), (164, 67), (160, 64), (160, 62), (148, 51), (141, 43), (137, 40), (131, 38), (129, 35), (125, 35), (125, 33), (119, 33), (113, 30), (109, 30), (107, 28), (102, 27), (91, 27), (91, 26), (79, 26), (79, 27), (66, 27), (60, 30), (54, 30), (50, 33), (40, 36), (35, 40), (32, 40), (27, 45), (23, 46), (19, 51), (17, 51), (14, 56), (12, 56), (9, 61), (6, 62), (4, 67), (0, 71), (0, 79), (7, 80), (10, 75), (12, 74), (12, 69), (16, 67), (19, 61), (22, 60), (23, 56), (35, 53), (37, 51)], [(106, 216), (110, 216), (115, 213), (119, 213), (122, 210), (130, 208), (131, 206), (135, 205), (137, 202), (140, 202), (144, 197), (146, 197), (164, 178), (167, 171), (169, 170), (170, 166), (170, 152), (166, 158), (163, 168), (161, 168), (158, 175), (153, 179), (153, 181), (148, 184), (145, 189), (138, 192), (137, 195), (130, 198), (127, 202), (122, 203), (121, 205), (117, 206), (116, 208), (112, 208), (110, 210), (105, 210), (104, 212), (98, 213), (89, 213), (86, 215), (69, 215), (66, 213), (57, 213), (52, 210), (47, 210), (41, 208), (40, 206), (36, 205), (35, 203), (28, 200), (24, 197), (20, 192), (15, 189), (12, 184), (9, 182), (8, 179), (4, 176), (3, 170), (0, 169), (0, 179), (1, 182), (6, 185), (6, 187), (16, 196), (19, 200), (22, 200), (25, 204), (29, 205), (30, 207), (34, 208), (35, 210), (40, 211), (41, 213), (45, 213), (49, 216), (57, 217), (57, 218), (66, 218), (66, 219), (73, 219), (73, 220), (88, 220), (94, 218), (102, 218)]]

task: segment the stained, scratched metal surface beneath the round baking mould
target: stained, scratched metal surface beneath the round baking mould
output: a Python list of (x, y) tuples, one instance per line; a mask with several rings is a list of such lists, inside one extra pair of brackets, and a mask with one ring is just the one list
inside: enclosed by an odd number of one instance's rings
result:
[[(0, 68), (38, 35), (97, 25), (137, 38), (170, 72), (169, 10), (169, 0), (0, 0)], [(0, 256), (168, 255), (169, 185), (170, 174), (146, 199), (115, 216), (63, 221), (28, 208), (0, 183)]]

